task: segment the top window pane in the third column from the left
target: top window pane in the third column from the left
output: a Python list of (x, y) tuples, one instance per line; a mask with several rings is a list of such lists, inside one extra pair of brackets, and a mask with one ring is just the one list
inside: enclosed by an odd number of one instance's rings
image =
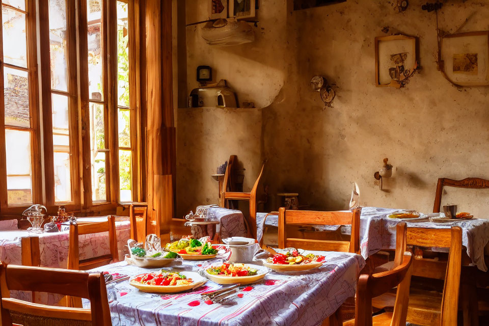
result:
[(89, 96), (103, 100), (102, 0), (87, 1)]

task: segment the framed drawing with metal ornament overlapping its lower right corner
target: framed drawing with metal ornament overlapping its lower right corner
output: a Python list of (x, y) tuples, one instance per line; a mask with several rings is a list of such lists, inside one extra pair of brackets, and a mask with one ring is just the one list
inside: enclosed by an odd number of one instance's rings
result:
[(404, 87), (418, 67), (418, 38), (391, 35), (375, 38), (375, 85)]

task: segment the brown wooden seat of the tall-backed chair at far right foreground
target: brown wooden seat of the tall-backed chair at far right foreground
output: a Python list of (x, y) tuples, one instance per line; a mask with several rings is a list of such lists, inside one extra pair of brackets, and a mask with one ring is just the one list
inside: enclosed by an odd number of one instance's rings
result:
[(417, 325), (439, 325), (442, 293), (411, 288), (406, 321)]

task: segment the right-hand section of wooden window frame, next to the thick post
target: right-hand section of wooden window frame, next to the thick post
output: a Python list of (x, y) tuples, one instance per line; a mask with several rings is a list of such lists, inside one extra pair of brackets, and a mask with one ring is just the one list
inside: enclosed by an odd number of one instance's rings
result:
[[(105, 124), (105, 146), (108, 149), (106, 156), (106, 202), (94, 203), (92, 201), (91, 185), (91, 159), (90, 159), (90, 114), (89, 103), (97, 102), (90, 100), (88, 91), (88, 22), (87, 1), (78, 0), (78, 37), (79, 37), (79, 80), (80, 87), (79, 106), (82, 127), (82, 167), (83, 167), (83, 206), (82, 211), (113, 211), (120, 206), (120, 182), (119, 182), (119, 135), (118, 135), (118, 94), (117, 94), (117, 0), (102, 1), (102, 53), (103, 53), (103, 84), (104, 84), (104, 124)], [(129, 29), (129, 87), (130, 87), (130, 110), (131, 115), (131, 150), (132, 150), (132, 201), (142, 200), (142, 158), (141, 149), (141, 96), (140, 96), (140, 57), (136, 50), (139, 43), (136, 37), (139, 33), (139, 24), (136, 20), (139, 13), (138, 6), (134, 0), (124, 1), (129, 5), (128, 29)], [(131, 28), (133, 27), (133, 28)], [(138, 43), (137, 43), (138, 42)], [(108, 58), (108, 59), (107, 59)], [(88, 149), (88, 150), (87, 150)]]

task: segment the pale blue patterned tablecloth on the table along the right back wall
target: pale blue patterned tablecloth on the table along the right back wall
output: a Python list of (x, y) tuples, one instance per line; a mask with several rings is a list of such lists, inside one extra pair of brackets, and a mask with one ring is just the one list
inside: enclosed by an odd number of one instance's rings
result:
[[(396, 248), (396, 225), (402, 220), (389, 219), (387, 216), (399, 209), (381, 207), (362, 207), (360, 215), (360, 250), (364, 258), (382, 249)], [(278, 226), (278, 216), (268, 215), (263, 221), (266, 213), (257, 214), (258, 240), (263, 236), (264, 225)], [(455, 221), (452, 223), (407, 223), (408, 227), (443, 229), (452, 226), (462, 228), (462, 244), (467, 248), (467, 254), (472, 263), (482, 271), (487, 271), (484, 262), (484, 248), (489, 246), (489, 220), (474, 219), (466, 221)], [(330, 230), (336, 230), (340, 226), (333, 226)], [(324, 229), (318, 228), (318, 231)], [(351, 227), (341, 226), (341, 232), (351, 234)]]

